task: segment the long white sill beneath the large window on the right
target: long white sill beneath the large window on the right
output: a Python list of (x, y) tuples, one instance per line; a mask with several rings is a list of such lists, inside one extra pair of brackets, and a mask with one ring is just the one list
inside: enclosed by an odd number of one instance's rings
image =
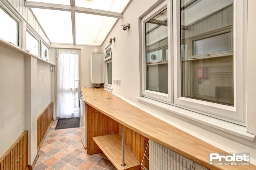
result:
[(213, 118), (210, 116), (206, 116), (200, 113), (196, 113), (193, 111), (189, 111), (183, 108), (179, 108), (177, 106), (173, 106), (173, 105), (169, 105), (163, 102), (159, 102), (153, 99), (149, 99), (146, 97), (137, 97), (136, 99), (138, 99), (141, 103), (152, 107), (156, 110), (159, 110), (161, 112), (167, 113), (171, 116), (178, 116), (179, 119), (189, 122), (188, 120), (192, 120), (194, 121), (194, 125), (198, 126), (198, 125), (206, 125), (208, 127), (211, 128), (216, 128), (218, 130), (221, 130), (223, 132), (241, 137), (243, 139), (246, 140), (250, 140), (250, 141), (254, 141), (256, 136), (254, 134), (248, 133), (246, 131), (246, 127), (241, 126), (241, 125), (237, 125), (234, 123), (230, 123), (227, 121), (223, 121), (217, 118)]

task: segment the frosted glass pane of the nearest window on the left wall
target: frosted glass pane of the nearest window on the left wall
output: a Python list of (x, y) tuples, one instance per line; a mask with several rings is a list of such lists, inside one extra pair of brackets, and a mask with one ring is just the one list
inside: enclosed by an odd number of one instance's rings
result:
[(18, 22), (12, 18), (2, 7), (0, 7), (0, 38), (19, 45), (18, 39)]

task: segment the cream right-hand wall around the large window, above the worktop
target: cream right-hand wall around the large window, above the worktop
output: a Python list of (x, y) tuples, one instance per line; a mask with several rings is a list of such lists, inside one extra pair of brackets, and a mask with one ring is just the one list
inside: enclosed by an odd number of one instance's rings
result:
[[(216, 133), (213, 133), (218, 132), (218, 130), (216, 129), (213, 129), (211, 132), (209, 130), (206, 130), (207, 126), (205, 126), (205, 128), (196, 127), (190, 124), (190, 122), (192, 123), (193, 121), (181, 121), (161, 111), (148, 107), (135, 99), (136, 97), (141, 96), (140, 17), (145, 16), (145, 14), (147, 13), (146, 11), (149, 11), (148, 9), (150, 9), (152, 6), (154, 6), (155, 3), (158, 2), (159, 1), (157, 0), (131, 1), (130, 5), (127, 7), (123, 14), (123, 19), (119, 19), (117, 21), (116, 25), (113, 27), (112, 31), (109, 33), (109, 35), (106, 37), (106, 40), (102, 44), (101, 49), (102, 51), (104, 51), (105, 47), (109, 45), (108, 39), (112, 37), (116, 38), (116, 41), (112, 42), (112, 75), (113, 79), (121, 80), (121, 85), (113, 84), (113, 93), (121, 97), (125, 101), (133, 104), (134, 106), (148, 112), (149, 114), (152, 114), (153, 116), (156, 116), (157, 118), (177, 128), (180, 128), (181, 130), (193, 136), (196, 136), (197, 138), (206, 141), (226, 152), (248, 151), (251, 153), (251, 163), (256, 164), (256, 142), (248, 141), (239, 137), (236, 138), (237, 140), (235, 140), (228, 133), (222, 133), (222, 136), (218, 135)], [(130, 29), (123, 31), (121, 25), (125, 23), (130, 23)], [(255, 43), (252, 43), (252, 45), (254, 44)], [(254, 59), (250, 60), (253, 62), (251, 63), (251, 69), (248, 69), (251, 71), (252, 74), (256, 64), (254, 55), (255, 52), (253, 53), (253, 55), (248, 55), (248, 57), (250, 58), (254, 57)], [(250, 83), (252, 83), (250, 87), (251, 90), (255, 92), (255, 81), (254, 83), (253, 81), (250, 81)], [(253, 112), (255, 111), (255, 96), (250, 98), (253, 98), (253, 101), (249, 102), (253, 105), (251, 109), (251, 112)], [(255, 118), (255, 112), (253, 112), (253, 115)], [(254, 118), (252, 120), (255, 120)], [(255, 126), (253, 127), (255, 129)]]

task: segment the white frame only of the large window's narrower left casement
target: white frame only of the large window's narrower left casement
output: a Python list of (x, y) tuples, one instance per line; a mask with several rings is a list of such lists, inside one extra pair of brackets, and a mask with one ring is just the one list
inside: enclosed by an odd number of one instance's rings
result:
[[(168, 50), (168, 94), (151, 91), (146, 89), (146, 27), (145, 24), (160, 12), (167, 8), (167, 48)], [(171, 1), (165, 0), (160, 5), (158, 5), (154, 10), (148, 13), (145, 17), (141, 19), (141, 35), (142, 35), (142, 95), (151, 99), (162, 101), (165, 103), (173, 102), (173, 77), (172, 77), (172, 3)], [(162, 49), (162, 48), (161, 48)], [(162, 56), (163, 57), (163, 56)], [(162, 59), (163, 60), (163, 59)]]

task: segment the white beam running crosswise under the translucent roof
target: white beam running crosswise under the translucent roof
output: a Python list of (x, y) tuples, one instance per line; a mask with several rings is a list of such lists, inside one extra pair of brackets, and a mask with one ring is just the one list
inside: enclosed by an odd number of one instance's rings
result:
[(101, 16), (113, 17), (113, 18), (123, 18), (123, 14), (118, 12), (111, 12), (111, 11), (104, 11), (104, 10), (69, 6), (69, 5), (44, 3), (44, 2), (25, 1), (25, 7), (78, 12), (78, 13), (101, 15)]

